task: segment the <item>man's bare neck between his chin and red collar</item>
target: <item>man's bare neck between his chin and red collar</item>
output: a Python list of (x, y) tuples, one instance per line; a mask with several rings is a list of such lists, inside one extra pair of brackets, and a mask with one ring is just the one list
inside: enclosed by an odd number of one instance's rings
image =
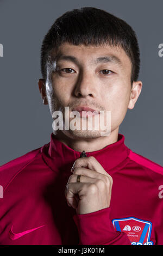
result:
[(93, 152), (100, 149), (105, 148), (107, 145), (110, 145), (112, 143), (117, 142), (118, 139), (118, 130), (115, 129), (114, 131), (110, 132), (109, 136), (101, 136), (98, 138), (83, 138), (83, 139), (77, 139), (77, 138), (70, 138), (65, 135), (62, 131), (59, 131), (57, 133), (53, 133), (54, 137), (58, 139), (58, 141), (64, 143), (67, 145), (67, 147), (82, 152), (85, 150), (85, 152)]

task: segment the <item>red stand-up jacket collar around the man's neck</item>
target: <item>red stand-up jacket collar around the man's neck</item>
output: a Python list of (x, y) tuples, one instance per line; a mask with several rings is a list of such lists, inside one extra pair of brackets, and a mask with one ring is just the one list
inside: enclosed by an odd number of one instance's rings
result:
[[(101, 163), (106, 172), (111, 169), (123, 165), (129, 155), (129, 148), (124, 144), (125, 137), (118, 133), (118, 140), (106, 146), (103, 149), (86, 152), (86, 156), (94, 156), (96, 160)], [(84, 149), (83, 149), (84, 150)], [(51, 141), (41, 148), (43, 160), (55, 172), (59, 170), (62, 172), (71, 173), (71, 167), (74, 161), (78, 159), (81, 152), (69, 148), (64, 143), (54, 138), (53, 132), (51, 133)], [(108, 172), (109, 173), (109, 172)]]

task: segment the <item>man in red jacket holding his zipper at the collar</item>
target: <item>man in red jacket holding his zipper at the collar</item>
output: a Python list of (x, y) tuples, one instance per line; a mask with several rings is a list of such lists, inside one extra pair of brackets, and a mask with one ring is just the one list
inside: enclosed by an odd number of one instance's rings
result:
[(163, 244), (163, 169), (118, 133), (141, 93), (139, 66), (135, 32), (123, 20), (81, 8), (55, 21), (39, 80), (53, 127), (57, 111), (66, 123), (68, 107), (78, 125), (108, 111), (110, 129), (53, 129), (49, 143), (1, 167), (1, 245)]

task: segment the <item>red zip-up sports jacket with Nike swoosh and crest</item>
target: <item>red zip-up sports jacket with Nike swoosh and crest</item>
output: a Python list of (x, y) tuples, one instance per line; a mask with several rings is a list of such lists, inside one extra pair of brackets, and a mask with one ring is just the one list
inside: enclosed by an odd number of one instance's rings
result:
[(0, 167), (0, 245), (163, 245), (163, 167), (131, 151), (121, 134), (86, 152), (113, 185), (109, 208), (80, 215), (65, 198), (80, 154), (52, 133), (43, 147)]

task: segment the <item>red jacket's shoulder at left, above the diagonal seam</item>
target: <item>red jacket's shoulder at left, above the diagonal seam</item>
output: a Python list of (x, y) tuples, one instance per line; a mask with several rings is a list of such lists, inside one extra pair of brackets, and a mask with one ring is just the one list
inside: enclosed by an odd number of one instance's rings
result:
[(15, 175), (21, 172), (21, 170), (23, 170), (35, 159), (37, 155), (40, 154), (40, 149), (41, 147), (33, 149), (32, 151), (29, 151), (28, 153), (0, 166), (0, 185), (3, 186), (3, 189), (8, 185), (10, 180), (12, 180)]

